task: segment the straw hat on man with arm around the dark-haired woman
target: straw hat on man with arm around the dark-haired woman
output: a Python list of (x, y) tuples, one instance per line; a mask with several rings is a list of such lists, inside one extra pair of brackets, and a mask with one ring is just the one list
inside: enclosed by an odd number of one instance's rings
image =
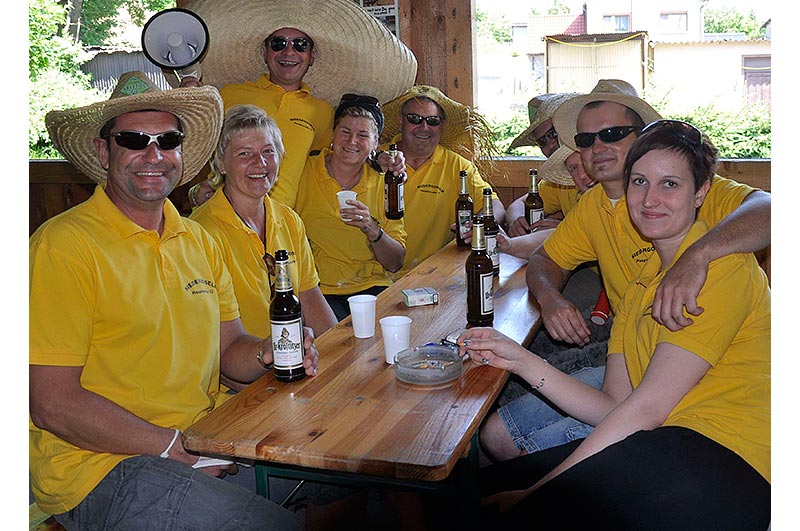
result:
[(621, 79), (601, 79), (589, 94), (583, 94), (564, 102), (553, 116), (553, 125), (558, 131), (558, 138), (574, 151), (575, 135), (578, 133), (578, 114), (587, 103), (593, 101), (612, 101), (633, 109), (645, 124), (661, 119), (661, 115), (650, 104), (641, 99), (630, 83)]

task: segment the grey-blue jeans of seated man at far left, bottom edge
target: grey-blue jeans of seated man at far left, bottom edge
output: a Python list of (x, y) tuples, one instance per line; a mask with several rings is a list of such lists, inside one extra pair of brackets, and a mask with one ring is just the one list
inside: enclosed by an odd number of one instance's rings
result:
[(77, 507), (54, 516), (81, 531), (300, 529), (294, 513), (255, 492), (153, 456), (120, 462)]

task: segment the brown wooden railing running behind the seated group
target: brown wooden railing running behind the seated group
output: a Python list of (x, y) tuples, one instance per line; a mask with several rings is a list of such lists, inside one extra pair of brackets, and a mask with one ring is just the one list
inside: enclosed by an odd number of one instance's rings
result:
[[(544, 159), (513, 157), (497, 161), (495, 174), (490, 181), (497, 188), (503, 204), (528, 191), (528, 170), (541, 168)], [(48, 218), (85, 201), (94, 190), (94, 183), (63, 160), (32, 160), (29, 173), (29, 234)], [(719, 174), (765, 191), (771, 191), (772, 161), (770, 159), (725, 159), (720, 164)], [(170, 200), (181, 213), (188, 214), (189, 187), (208, 175), (206, 169), (198, 177), (170, 194)]]

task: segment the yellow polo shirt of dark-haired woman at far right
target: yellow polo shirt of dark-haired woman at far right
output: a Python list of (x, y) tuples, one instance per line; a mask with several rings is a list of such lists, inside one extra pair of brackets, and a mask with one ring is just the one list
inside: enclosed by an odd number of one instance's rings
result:
[[(707, 232), (698, 221), (676, 258)], [(673, 261), (674, 263), (674, 261)], [(659, 273), (658, 253), (631, 282), (614, 317), (610, 353), (624, 353), (631, 384), (642, 381), (659, 343), (684, 348), (711, 368), (664, 422), (689, 428), (718, 442), (770, 481), (770, 290), (752, 253), (711, 263), (697, 297), (705, 311), (692, 326), (670, 332), (650, 315)]]

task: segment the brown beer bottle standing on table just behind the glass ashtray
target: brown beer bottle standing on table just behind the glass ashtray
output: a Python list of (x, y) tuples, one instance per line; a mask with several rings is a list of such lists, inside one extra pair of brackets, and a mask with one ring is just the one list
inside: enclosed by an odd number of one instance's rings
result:
[(492, 259), (486, 255), (483, 215), (472, 221), (472, 252), (467, 258), (467, 323), (492, 326), (494, 321), (494, 276)]

